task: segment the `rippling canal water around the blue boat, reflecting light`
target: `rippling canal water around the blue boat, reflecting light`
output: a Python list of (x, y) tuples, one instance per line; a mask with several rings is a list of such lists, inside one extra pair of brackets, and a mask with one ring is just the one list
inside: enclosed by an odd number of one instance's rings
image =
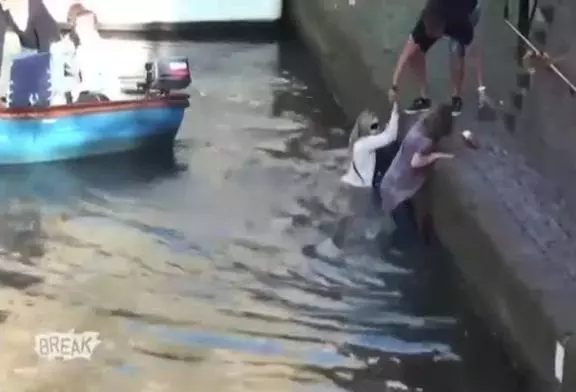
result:
[[(300, 43), (113, 44), (126, 74), (189, 57), (191, 107), (173, 157), (3, 170), (1, 389), (515, 390), (416, 237), (375, 216), (324, 246), (350, 124)], [(35, 353), (70, 330), (90, 360)]]

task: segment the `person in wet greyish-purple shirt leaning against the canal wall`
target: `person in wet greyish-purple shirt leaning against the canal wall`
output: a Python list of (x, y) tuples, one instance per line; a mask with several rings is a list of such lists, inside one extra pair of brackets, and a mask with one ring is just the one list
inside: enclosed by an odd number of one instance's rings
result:
[(382, 210), (392, 212), (412, 199), (430, 176), (434, 163), (454, 157), (438, 150), (441, 140), (452, 131), (452, 105), (448, 104), (423, 115), (410, 128), (380, 182)]

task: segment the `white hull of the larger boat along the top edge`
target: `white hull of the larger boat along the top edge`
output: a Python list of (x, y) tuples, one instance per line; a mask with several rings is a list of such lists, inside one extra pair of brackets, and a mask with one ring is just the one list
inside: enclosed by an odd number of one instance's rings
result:
[(147, 26), (210, 22), (275, 22), (282, 15), (282, 0), (44, 0), (52, 16), (66, 23), (68, 8), (82, 3), (94, 11), (102, 28), (142, 30)]

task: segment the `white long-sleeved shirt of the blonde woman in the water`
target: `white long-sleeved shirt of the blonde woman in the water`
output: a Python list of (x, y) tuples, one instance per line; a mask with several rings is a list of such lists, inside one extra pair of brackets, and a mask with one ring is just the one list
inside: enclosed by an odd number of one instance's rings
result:
[(354, 187), (371, 187), (376, 170), (376, 150), (393, 143), (398, 137), (400, 115), (396, 105), (386, 129), (376, 135), (361, 137), (352, 147), (352, 161), (341, 181)]

